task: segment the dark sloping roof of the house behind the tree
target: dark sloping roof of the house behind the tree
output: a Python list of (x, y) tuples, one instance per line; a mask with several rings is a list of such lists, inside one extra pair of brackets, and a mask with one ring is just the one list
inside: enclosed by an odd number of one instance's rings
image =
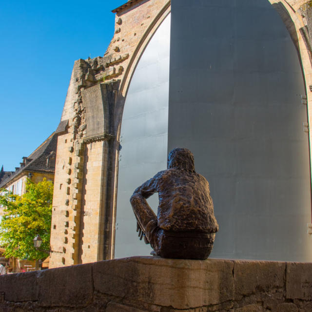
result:
[(20, 167), (16, 167), (15, 172), (4, 171), (3, 166), (0, 171), (0, 188), (3, 188), (7, 183), (13, 180), (16, 176), (26, 172), (55, 172), (55, 161), (50, 161), (50, 158), (55, 159), (57, 150), (57, 135), (52, 133), (39, 147), (32, 152), (28, 157), (22, 157)]

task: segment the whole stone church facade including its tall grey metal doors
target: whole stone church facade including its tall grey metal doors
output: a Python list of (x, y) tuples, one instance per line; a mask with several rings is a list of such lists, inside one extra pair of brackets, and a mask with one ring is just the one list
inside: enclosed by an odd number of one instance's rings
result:
[(148, 255), (129, 198), (174, 147), (210, 182), (211, 256), (311, 261), (310, 1), (113, 12), (104, 56), (74, 64), (56, 130), (50, 268)]

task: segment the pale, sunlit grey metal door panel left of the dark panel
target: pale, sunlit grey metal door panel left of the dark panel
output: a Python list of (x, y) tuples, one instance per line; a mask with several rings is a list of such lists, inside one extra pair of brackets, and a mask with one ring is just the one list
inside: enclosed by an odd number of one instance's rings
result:
[[(122, 124), (118, 169), (115, 258), (149, 255), (139, 241), (129, 199), (143, 182), (167, 166), (170, 16), (145, 49), (132, 78)], [(158, 196), (148, 202), (157, 213)]]

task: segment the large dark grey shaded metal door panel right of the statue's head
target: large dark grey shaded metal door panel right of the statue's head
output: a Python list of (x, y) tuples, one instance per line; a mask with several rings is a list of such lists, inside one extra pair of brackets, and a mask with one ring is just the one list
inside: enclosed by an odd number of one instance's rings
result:
[(211, 185), (212, 257), (311, 261), (305, 94), (267, 0), (172, 0), (168, 151)]

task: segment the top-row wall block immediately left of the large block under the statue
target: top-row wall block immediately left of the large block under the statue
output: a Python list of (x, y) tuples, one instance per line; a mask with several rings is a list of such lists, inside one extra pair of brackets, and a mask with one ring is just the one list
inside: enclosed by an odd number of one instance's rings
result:
[(43, 307), (79, 307), (93, 300), (92, 265), (40, 271), (39, 305)]

